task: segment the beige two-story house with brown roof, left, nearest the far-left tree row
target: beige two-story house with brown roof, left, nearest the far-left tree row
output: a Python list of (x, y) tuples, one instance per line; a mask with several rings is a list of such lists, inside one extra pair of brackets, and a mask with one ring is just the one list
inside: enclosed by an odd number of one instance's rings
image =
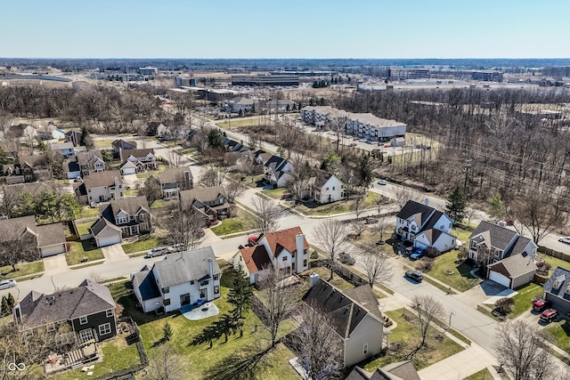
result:
[(118, 170), (87, 175), (83, 183), (74, 184), (77, 201), (83, 205), (124, 198), (123, 177)]

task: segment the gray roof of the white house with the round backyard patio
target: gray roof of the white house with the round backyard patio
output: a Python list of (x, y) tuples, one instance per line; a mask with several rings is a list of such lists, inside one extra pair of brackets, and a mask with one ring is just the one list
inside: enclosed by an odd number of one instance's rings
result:
[(213, 274), (220, 273), (220, 266), (210, 246), (167, 255), (164, 260), (154, 263), (154, 268), (162, 287), (173, 287), (191, 280), (207, 279), (208, 259), (212, 261)]

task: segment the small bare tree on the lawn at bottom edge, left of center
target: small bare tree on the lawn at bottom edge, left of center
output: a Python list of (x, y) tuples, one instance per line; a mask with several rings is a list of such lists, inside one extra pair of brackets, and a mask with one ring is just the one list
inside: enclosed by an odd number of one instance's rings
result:
[(151, 355), (148, 372), (156, 380), (182, 380), (186, 378), (187, 361), (175, 353), (172, 344), (160, 344)]

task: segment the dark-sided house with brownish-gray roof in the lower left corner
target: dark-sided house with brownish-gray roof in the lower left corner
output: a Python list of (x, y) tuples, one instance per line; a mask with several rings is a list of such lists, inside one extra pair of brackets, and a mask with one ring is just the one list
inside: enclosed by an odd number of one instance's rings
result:
[(85, 279), (53, 295), (31, 291), (14, 305), (12, 318), (21, 332), (67, 323), (81, 343), (101, 342), (117, 335), (116, 306), (109, 287)]

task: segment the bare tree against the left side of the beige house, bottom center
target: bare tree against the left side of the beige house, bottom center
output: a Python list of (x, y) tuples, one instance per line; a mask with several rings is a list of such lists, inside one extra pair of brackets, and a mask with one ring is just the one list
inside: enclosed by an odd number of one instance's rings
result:
[(342, 343), (331, 321), (310, 305), (303, 304), (297, 315), (300, 326), (292, 333), (291, 344), (305, 379), (333, 378), (342, 368)]

